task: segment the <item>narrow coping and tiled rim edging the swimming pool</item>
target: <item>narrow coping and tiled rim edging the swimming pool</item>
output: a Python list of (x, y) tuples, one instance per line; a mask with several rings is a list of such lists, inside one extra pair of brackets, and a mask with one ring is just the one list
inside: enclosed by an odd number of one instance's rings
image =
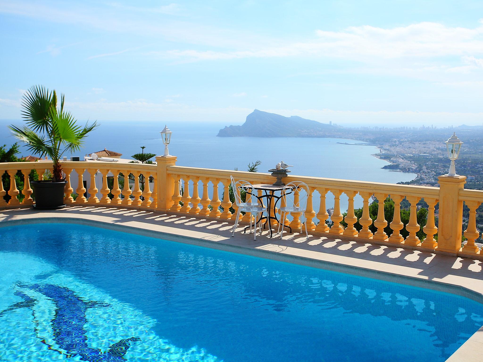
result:
[[(176, 235), (166, 231), (150, 230), (143, 227), (133, 225), (122, 225), (102, 220), (91, 220), (82, 217), (71, 217), (59, 214), (52, 214), (51, 216), (40, 217), (26, 217), (18, 220), (1, 220), (0, 228), (26, 225), (34, 223), (69, 223), (80, 224), (87, 226), (100, 227), (104, 229), (127, 232), (129, 234), (142, 235), (146, 237), (154, 237), (157, 239), (164, 239), (174, 242), (181, 242), (185, 244), (197, 245), (201, 247), (207, 247), (210, 249), (216, 249), (221, 251), (235, 252), (239, 254), (245, 254), (264, 259), (276, 260), (285, 263), (310, 266), (319, 269), (325, 269), (334, 272), (340, 272), (350, 274), (358, 277), (374, 278), (378, 280), (395, 282), (399, 284), (405, 284), (412, 287), (419, 287), (430, 289), (438, 292), (448, 292), (458, 296), (469, 298), (475, 302), (483, 304), (483, 294), (470, 288), (447, 283), (438, 280), (429, 280), (424, 278), (412, 277), (397, 273), (391, 273), (388, 271), (373, 270), (361, 266), (353, 266), (348, 264), (341, 264), (334, 261), (317, 260), (302, 255), (291, 255), (270, 250), (256, 249), (253, 246), (240, 246), (230, 245), (220, 240), (210, 240), (205, 238), (190, 237), (185, 235)], [(183, 229), (178, 229), (183, 230)], [(228, 239), (230, 240), (230, 239)], [(483, 360), (483, 327), (471, 336), (455, 353), (447, 360), (448, 362), (472, 362)]]

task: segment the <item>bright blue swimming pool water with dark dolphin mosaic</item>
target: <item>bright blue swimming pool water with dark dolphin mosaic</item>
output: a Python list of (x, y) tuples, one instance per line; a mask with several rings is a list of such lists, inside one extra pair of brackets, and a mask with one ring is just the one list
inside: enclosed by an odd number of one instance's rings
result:
[(0, 361), (445, 361), (456, 295), (90, 226), (0, 228)]

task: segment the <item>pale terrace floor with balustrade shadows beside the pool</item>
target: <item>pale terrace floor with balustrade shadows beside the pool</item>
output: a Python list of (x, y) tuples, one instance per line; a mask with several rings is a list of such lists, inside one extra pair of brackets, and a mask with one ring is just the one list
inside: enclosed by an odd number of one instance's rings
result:
[[(90, 220), (176, 236), (194, 237), (246, 250), (269, 251), (287, 257), (298, 257), (292, 261), (322, 262), (332, 270), (342, 271), (338, 267), (347, 267), (349, 271), (345, 270), (346, 272), (351, 272), (351, 269), (354, 272), (354, 267), (356, 267), (370, 271), (374, 278), (382, 276), (383, 279), (402, 283), (412, 284), (407, 281), (407, 278), (403, 280), (401, 277), (426, 281), (425, 284), (427, 281), (435, 281), (464, 287), (483, 296), (483, 261), (480, 260), (455, 258), (431, 252), (407, 250), (397, 246), (375, 245), (326, 236), (309, 235), (309, 239), (306, 239), (305, 234), (298, 233), (284, 233), (283, 239), (278, 236), (269, 238), (268, 230), (264, 230), (262, 236), (257, 236), (257, 240), (253, 240), (253, 234), (242, 233), (244, 225), (237, 229), (235, 237), (231, 237), (232, 222), (134, 209), (72, 206), (55, 211), (36, 211), (31, 208), (0, 210), (0, 223), (52, 217)], [(268, 257), (271, 258), (271, 255)], [(312, 265), (310, 263), (299, 264)], [(319, 265), (318, 267), (326, 266)], [(374, 271), (384, 274), (378, 273), (378, 277), (374, 275)], [(353, 274), (363, 275), (363, 273), (356, 272)], [(448, 361), (483, 361), (483, 327)]]

